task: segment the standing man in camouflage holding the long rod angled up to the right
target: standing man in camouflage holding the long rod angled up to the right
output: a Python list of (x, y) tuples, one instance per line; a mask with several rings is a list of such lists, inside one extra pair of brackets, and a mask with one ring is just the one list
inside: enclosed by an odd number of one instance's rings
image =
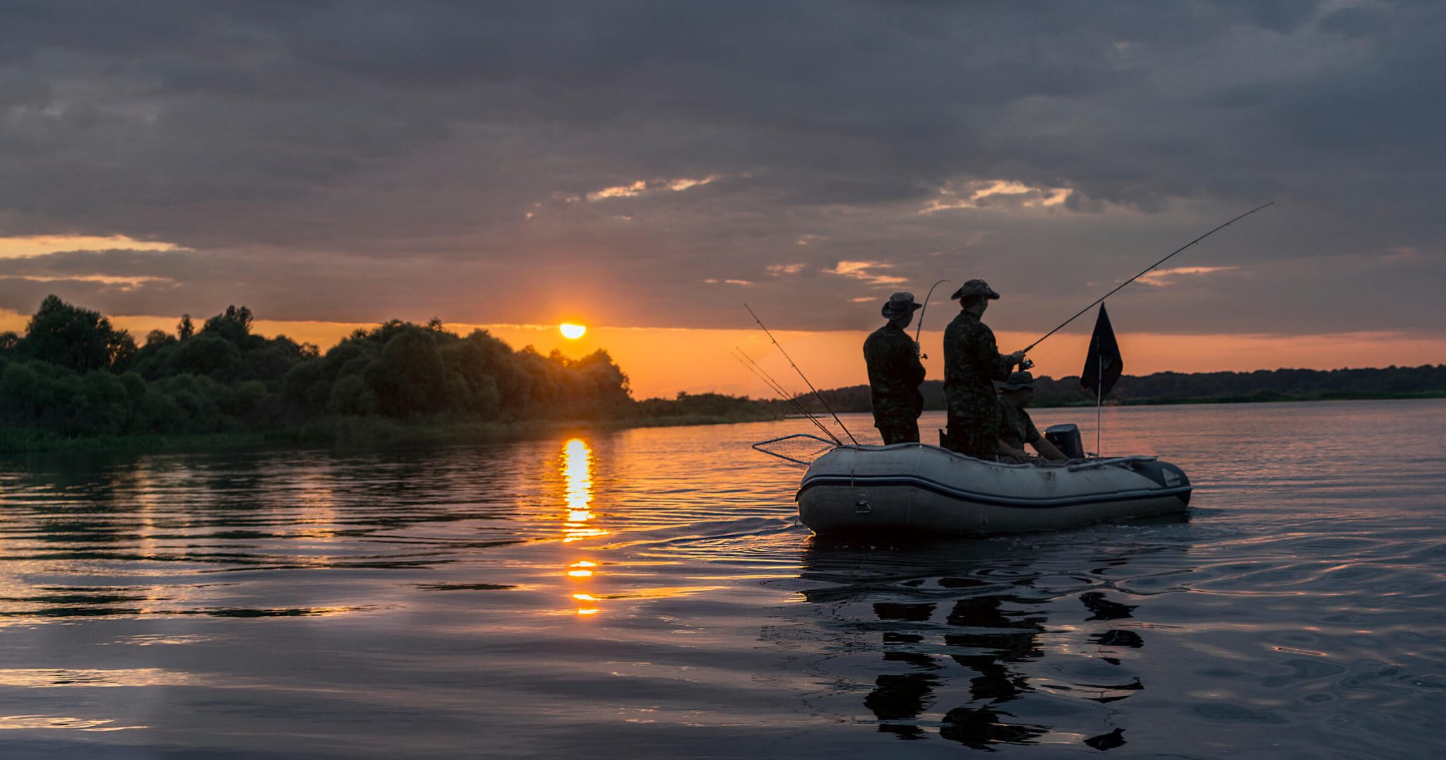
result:
[(959, 316), (944, 329), (944, 401), (949, 434), (944, 444), (959, 453), (992, 462), (999, 453), (999, 401), (993, 381), (1009, 379), (1024, 363), (1024, 352), (999, 355), (993, 330), (979, 321), (999, 294), (983, 279), (970, 279), (950, 295)]

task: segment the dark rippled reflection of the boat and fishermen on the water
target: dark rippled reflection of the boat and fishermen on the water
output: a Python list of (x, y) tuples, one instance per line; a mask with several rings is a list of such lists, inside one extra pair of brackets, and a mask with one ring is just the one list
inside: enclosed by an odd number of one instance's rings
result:
[[(1135, 620), (1139, 599), (1111, 579), (1137, 554), (1177, 550), (930, 541), (881, 552), (814, 539), (800, 573), (817, 611), (805, 637), (829, 646), (811, 675), (853, 679), (836, 686), (863, 693), (866, 712), (853, 715), (899, 740), (1124, 746), (1124, 704), (1145, 689), (1135, 664), (1148, 625)], [(1060, 575), (1089, 591), (1041, 583)]]

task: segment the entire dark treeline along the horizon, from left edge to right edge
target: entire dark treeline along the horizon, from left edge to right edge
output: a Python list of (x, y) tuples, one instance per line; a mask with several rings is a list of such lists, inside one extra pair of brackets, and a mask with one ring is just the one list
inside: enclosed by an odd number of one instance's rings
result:
[[(395, 439), (399, 427), (516, 427), (607, 421), (690, 424), (769, 420), (795, 411), (781, 400), (678, 394), (636, 401), (604, 350), (581, 359), (513, 350), (486, 330), (461, 336), (392, 320), (356, 330), (321, 353), (285, 336), (252, 333), (252, 311), (227, 307), (200, 324), (137, 343), (108, 318), (51, 295), (25, 334), (0, 333), (0, 450), (56, 440), (275, 434), (283, 440)], [(834, 411), (869, 411), (866, 385), (824, 391)], [(1121, 404), (1404, 398), (1446, 395), (1446, 366), (1160, 372), (1119, 379)], [(813, 411), (814, 398), (800, 397)], [(944, 408), (940, 381), (924, 384)], [(1034, 405), (1086, 405), (1079, 378), (1041, 378)]]

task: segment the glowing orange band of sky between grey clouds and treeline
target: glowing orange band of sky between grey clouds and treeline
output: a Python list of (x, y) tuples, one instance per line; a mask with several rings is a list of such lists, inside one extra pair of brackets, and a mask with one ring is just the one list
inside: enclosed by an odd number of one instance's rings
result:
[[(0, 330), (23, 332), (29, 317), (0, 313)], [(197, 318), (192, 316), (192, 318)], [(137, 342), (152, 329), (175, 332), (176, 317), (111, 317), (117, 327), (130, 330)], [(200, 320), (198, 320), (200, 321)], [(286, 334), (294, 340), (315, 343), (322, 352), (356, 329), (372, 323), (268, 321), (257, 320), (257, 334)], [(568, 340), (551, 324), (464, 324), (448, 323), (461, 334), (483, 329), (508, 342), (513, 349), (534, 346), (542, 353), (552, 349), (567, 356), (583, 356), (604, 349), (630, 379), (633, 398), (671, 398), (690, 394), (723, 392), (772, 398), (772, 391), (730, 356), (740, 346), (790, 391), (805, 391), (803, 381), (782, 360), (768, 337), (753, 329), (704, 330), (677, 327), (591, 327), (584, 340)], [(1014, 350), (1038, 339), (1035, 333), (999, 330), (1001, 350)], [(1339, 369), (1369, 366), (1420, 366), (1446, 363), (1446, 337), (1407, 333), (1358, 332), (1336, 334), (1163, 334), (1131, 333), (1115, 326), (1125, 355), (1125, 373), (1151, 372), (1251, 372), (1257, 369)], [(775, 330), (798, 366), (814, 387), (839, 388), (868, 382), (862, 346), (866, 330), (803, 332)], [(930, 379), (943, 372), (941, 330), (923, 334), (924, 366)], [(1060, 378), (1077, 375), (1089, 346), (1089, 333), (1058, 333), (1040, 346), (1031, 358), (1035, 373)]]

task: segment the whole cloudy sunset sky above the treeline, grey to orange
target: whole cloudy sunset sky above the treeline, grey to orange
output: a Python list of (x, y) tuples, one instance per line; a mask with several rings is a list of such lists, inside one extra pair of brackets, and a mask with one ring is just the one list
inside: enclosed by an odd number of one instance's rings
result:
[(440, 317), (606, 347), (639, 397), (766, 395), (733, 347), (791, 369), (745, 301), (847, 385), (882, 301), (947, 278), (937, 378), (964, 279), (1014, 350), (1274, 201), (1109, 300), (1126, 372), (1446, 362), (1440, 3), (46, 0), (0, 29), (0, 329), (51, 292), (324, 347)]

